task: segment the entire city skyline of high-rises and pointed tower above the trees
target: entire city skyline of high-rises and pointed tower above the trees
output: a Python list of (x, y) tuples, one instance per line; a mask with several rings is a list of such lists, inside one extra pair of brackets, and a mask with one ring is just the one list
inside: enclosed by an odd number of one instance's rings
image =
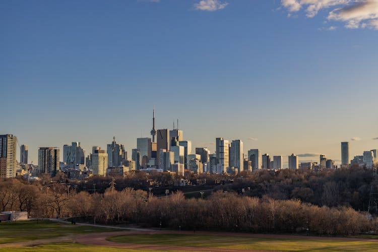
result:
[[(178, 126), (178, 121), (177, 121)], [(99, 146), (92, 147), (92, 153), (85, 155), (80, 142), (63, 146), (63, 162), (57, 147), (40, 147), (38, 165), (28, 164), (28, 147), (20, 146), (20, 162), (16, 160), (17, 138), (13, 135), (0, 135), (0, 177), (10, 178), (17, 175), (41, 176), (43, 173), (52, 177), (58, 171), (65, 172), (70, 178), (83, 178), (90, 175), (122, 176), (133, 170), (145, 172), (169, 171), (179, 175), (193, 173), (239, 173), (244, 170), (283, 169), (283, 156), (263, 154), (259, 149), (243, 153), (241, 140), (228, 141), (216, 138), (215, 153), (207, 147), (195, 148), (192, 142), (184, 140), (183, 131), (173, 125), (173, 130), (155, 128), (155, 110), (151, 138), (138, 138), (137, 148), (132, 149), (131, 158), (123, 145), (113, 141), (106, 150)], [(298, 156), (288, 158), (289, 169), (334, 169), (335, 162), (320, 155), (318, 162), (298, 162)], [(341, 166), (358, 164), (373, 168), (377, 165), (377, 150), (364, 151), (362, 156), (355, 156), (349, 161), (349, 142), (341, 143)]]

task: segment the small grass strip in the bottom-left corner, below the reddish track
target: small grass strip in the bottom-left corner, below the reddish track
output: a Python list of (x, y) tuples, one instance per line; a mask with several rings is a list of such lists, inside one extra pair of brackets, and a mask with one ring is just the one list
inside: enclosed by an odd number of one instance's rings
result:
[[(48, 244), (42, 244), (38, 246), (32, 246), (32, 247), (26, 247), (26, 246), (20, 246), (20, 247), (3, 247), (0, 248), (0, 252), (32, 252), (32, 251), (38, 251), (38, 252), (45, 252), (45, 251), (90, 251), (90, 252), (140, 252), (140, 251), (146, 251), (146, 252), (162, 252), (165, 250), (137, 250), (137, 249), (125, 249), (125, 248), (114, 248), (114, 247), (103, 247), (103, 246), (91, 246), (91, 245), (84, 245), (79, 243), (70, 243), (70, 242), (61, 242), (61, 243), (48, 243)], [(171, 251), (170, 251), (171, 252)]]

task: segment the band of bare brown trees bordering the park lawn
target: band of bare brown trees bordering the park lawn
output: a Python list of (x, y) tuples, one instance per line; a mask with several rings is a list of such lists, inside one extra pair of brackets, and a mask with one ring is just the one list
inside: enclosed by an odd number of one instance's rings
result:
[(300, 199), (261, 198), (216, 191), (206, 199), (181, 192), (156, 197), (131, 187), (104, 193), (76, 192), (66, 183), (0, 182), (2, 211), (27, 211), (34, 218), (83, 217), (104, 224), (135, 223), (181, 230), (349, 234), (378, 230), (378, 221), (350, 206), (317, 206)]

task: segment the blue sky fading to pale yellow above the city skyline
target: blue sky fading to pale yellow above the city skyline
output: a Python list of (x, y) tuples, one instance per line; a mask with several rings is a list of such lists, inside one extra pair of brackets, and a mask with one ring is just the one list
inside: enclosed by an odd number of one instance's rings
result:
[(153, 105), (193, 151), (223, 137), (340, 163), (340, 142), (350, 159), (378, 148), (378, 0), (1, 1), (0, 36), (0, 134), (34, 164), (39, 147), (90, 154), (113, 136), (131, 156)]

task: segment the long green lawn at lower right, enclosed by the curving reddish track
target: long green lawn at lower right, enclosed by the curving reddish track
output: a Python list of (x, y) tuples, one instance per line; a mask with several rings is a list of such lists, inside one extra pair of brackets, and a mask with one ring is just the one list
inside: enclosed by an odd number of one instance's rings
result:
[(281, 251), (376, 251), (378, 247), (378, 243), (372, 241), (195, 234), (121, 235), (109, 237), (107, 238), (107, 240), (137, 244), (162, 244), (177, 246), (201, 246), (229, 249), (260, 249)]

